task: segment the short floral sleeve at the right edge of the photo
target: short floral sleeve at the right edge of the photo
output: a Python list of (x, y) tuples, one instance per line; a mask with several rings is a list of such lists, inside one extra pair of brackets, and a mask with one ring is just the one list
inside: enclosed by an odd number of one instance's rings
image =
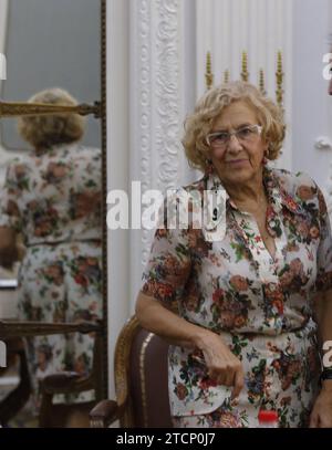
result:
[(317, 254), (317, 282), (318, 292), (326, 291), (332, 287), (332, 236), (331, 224), (328, 213), (325, 199), (322, 191), (318, 188), (319, 199), (319, 223), (320, 223), (320, 243)]

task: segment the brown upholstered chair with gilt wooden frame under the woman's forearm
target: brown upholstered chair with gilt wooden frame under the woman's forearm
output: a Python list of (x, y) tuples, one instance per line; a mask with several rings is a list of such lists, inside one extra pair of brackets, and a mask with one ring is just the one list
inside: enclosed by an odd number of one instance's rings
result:
[(92, 428), (172, 427), (168, 400), (168, 344), (143, 329), (135, 316), (123, 327), (115, 347), (116, 399), (103, 400), (90, 412)]

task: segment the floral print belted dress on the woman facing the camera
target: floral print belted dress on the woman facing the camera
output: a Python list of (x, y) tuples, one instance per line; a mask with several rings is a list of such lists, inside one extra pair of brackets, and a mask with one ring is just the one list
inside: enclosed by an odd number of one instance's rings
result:
[[(281, 427), (308, 426), (320, 374), (313, 299), (332, 286), (330, 222), (322, 192), (305, 174), (266, 166), (263, 182), (273, 258), (253, 217), (227, 195), (219, 240), (207, 240), (190, 220), (187, 229), (155, 233), (142, 291), (219, 334), (245, 370), (245, 388), (231, 401), (231, 388), (209, 378), (199, 349), (170, 346), (177, 427), (258, 427), (261, 408), (277, 410)], [(204, 190), (221, 188), (209, 174), (184, 189), (200, 192), (201, 202)]]

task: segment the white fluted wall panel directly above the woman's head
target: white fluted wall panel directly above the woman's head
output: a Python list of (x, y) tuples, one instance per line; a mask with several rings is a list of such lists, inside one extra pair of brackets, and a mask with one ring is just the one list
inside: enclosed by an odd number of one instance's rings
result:
[[(211, 53), (214, 84), (240, 80), (242, 52), (247, 53), (249, 82), (258, 85), (264, 73), (268, 96), (276, 100), (277, 55), (283, 63), (283, 108), (286, 122), (292, 116), (292, 1), (291, 0), (196, 0), (197, 4), (197, 97), (205, 88), (207, 52)], [(291, 169), (291, 127), (277, 165)]]

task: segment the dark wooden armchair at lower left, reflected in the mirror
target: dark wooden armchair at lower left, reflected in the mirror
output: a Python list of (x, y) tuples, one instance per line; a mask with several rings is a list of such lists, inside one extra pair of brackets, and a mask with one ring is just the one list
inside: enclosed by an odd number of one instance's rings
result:
[(52, 334), (94, 333), (94, 360), (91, 374), (82, 376), (74, 371), (46, 376), (42, 381), (42, 404), (39, 417), (40, 427), (62, 427), (69, 414), (77, 405), (53, 405), (55, 394), (82, 393), (93, 389), (96, 400), (80, 404), (87, 411), (103, 397), (103, 325), (102, 323), (40, 323), (0, 321), (0, 338), (7, 343), (8, 357), (17, 354), (20, 358), (20, 383), (0, 402), (0, 422), (7, 423), (24, 406), (30, 396), (30, 379), (24, 352), (23, 337), (46, 336)]

